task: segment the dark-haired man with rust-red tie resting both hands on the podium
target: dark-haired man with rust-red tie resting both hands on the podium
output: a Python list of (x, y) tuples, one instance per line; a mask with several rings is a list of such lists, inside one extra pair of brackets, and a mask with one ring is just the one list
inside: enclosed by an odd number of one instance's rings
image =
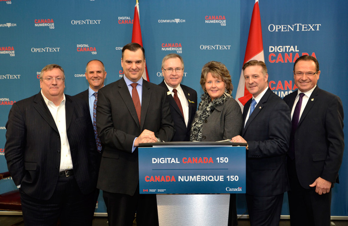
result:
[(156, 195), (139, 195), (139, 143), (174, 135), (166, 90), (142, 78), (145, 50), (122, 49), (124, 76), (98, 91), (97, 129), (104, 147), (97, 187), (103, 191), (110, 226), (158, 225)]

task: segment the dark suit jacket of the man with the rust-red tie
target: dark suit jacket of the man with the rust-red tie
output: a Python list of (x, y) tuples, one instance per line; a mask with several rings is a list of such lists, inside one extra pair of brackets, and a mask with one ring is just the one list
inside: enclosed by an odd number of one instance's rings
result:
[(96, 125), (104, 151), (97, 188), (111, 193), (134, 195), (139, 183), (138, 148), (132, 153), (135, 137), (144, 129), (170, 141), (174, 123), (166, 90), (143, 80), (141, 125), (124, 79), (98, 91)]

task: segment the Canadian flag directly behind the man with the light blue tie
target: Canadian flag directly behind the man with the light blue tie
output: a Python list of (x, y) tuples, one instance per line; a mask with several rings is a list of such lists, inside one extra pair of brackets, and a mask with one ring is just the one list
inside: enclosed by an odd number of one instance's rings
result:
[[(264, 62), (259, 0), (256, 0), (254, 4), (243, 65), (251, 60), (259, 60)], [(241, 106), (242, 112), (244, 105), (251, 98), (252, 94), (249, 93), (249, 91), (245, 87), (244, 74), (242, 70), (236, 94), (236, 100)]]

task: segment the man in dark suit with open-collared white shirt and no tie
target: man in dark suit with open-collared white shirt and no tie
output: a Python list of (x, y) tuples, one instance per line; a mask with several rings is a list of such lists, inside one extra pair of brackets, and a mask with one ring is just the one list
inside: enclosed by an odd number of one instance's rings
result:
[(6, 123), (5, 158), (20, 187), (28, 226), (85, 226), (96, 187), (96, 145), (87, 104), (64, 95), (64, 70), (40, 74), (41, 92), (13, 104)]

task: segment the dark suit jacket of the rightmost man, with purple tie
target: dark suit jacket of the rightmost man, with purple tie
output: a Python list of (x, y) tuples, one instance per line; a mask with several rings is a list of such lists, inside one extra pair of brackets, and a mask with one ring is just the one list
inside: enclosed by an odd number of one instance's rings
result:
[[(284, 97), (292, 109), (297, 91)], [(344, 152), (343, 106), (341, 99), (317, 86), (295, 131), (295, 163), (298, 180), (310, 189), (318, 177), (336, 182)]]

